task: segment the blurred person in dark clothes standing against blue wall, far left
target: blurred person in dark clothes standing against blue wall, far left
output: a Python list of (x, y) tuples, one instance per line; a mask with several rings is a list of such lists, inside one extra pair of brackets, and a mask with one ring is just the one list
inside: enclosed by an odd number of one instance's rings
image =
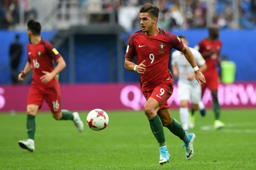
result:
[(10, 66), (11, 66), (11, 80), (12, 84), (17, 84), (18, 81), (18, 66), (22, 55), (22, 45), (19, 43), (19, 35), (15, 36), (14, 42), (9, 48)]

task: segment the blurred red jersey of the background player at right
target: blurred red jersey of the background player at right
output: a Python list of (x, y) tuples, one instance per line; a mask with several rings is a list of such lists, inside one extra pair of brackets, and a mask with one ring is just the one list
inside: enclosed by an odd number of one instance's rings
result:
[(213, 72), (217, 72), (217, 60), (219, 58), (220, 49), (222, 47), (222, 42), (220, 40), (209, 41), (207, 38), (202, 39), (198, 43), (198, 51), (202, 53), (210, 52), (212, 50), (216, 50), (216, 53), (212, 54), (211, 56), (205, 57), (205, 62), (207, 65), (207, 70), (204, 74), (211, 74)]

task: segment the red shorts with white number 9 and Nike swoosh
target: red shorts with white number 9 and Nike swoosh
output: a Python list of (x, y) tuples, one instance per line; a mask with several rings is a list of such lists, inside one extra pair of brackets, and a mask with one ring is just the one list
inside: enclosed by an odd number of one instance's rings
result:
[[(143, 91), (143, 95), (145, 96), (146, 100), (149, 99), (149, 97), (152, 97), (156, 99), (160, 105), (160, 112), (161, 110), (165, 108), (169, 108), (169, 104), (167, 103), (167, 100), (170, 98), (173, 92), (173, 85), (163, 83), (160, 85), (157, 85), (153, 90), (151, 91)], [(160, 114), (160, 112), (157, 112), (157, 114)]]

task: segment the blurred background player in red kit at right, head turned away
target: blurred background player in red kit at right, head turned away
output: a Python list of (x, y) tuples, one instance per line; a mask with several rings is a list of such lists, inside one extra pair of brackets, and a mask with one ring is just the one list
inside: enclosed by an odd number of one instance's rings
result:
[(213, 98), (213, 111), (215, 113), (214, 129), (220, 129), (225, 126), (220, 118), (220, 105), (218, 102), (218, 85), (219, 75), (217, 64), (219, 64), (219, 54), (222, 47), (222, 42), (218, 40), (219, 28), (211, 26), (208, 28), (209, 36), (202, 39), (198, 45), (198, 51), (205, 59), (207, 70), (204, 72), (206, 84), (202, 85), (202, 95), (205, 92), (206, 87), (211, 90)]

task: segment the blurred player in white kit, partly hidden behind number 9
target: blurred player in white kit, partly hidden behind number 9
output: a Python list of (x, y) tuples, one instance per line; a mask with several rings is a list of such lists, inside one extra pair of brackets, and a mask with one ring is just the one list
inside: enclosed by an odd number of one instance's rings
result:
[[(179, 36), (184, 44), (188, 45), (185, 36)], [(189, 48), (193, 53), (196, 63), (199, 67), (200, 72), (204, 72), (207, 69), (205, 60), (202, 55), (194, 48)], [(180, 121), (185, 131), (193, 128), (194, 120), (189, 124), (189, 111), (188, 104), (189, 100), (192, 102), (192, 109), (199, 110), (199, 102), (201, 101), (201, 85), (195, 79), (194, 71), (191, 68), (189, 62), (180, 51), (174, 51), (172, 53), (172, 71), (178, 79), (178, 96), (180, 100)], [(201, 106), (204, 109), (204, 106)], [(205, 110), (201, 112), (205, 112)], [(194, 117), (193, 117), (194, 118)]]

